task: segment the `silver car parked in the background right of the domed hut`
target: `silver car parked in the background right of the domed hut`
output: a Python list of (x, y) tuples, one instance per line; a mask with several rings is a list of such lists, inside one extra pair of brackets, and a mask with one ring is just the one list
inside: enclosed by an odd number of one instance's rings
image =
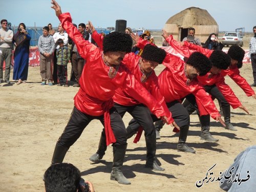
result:
[(222, 44), (225, 46), (229, 45), (237, 45), (243, 47), (243, 37), (241, 37), (240, 33), (237, 32), (226, 32), (222, 37)]

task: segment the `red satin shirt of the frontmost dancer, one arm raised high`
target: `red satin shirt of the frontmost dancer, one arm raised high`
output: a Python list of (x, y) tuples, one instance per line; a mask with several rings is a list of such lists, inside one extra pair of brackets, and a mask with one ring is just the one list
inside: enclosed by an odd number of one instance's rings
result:
[(165, 115), (162, 106), (137, 82), (123, 63), (119, 65), (116, 75), (110, 78), (113, 68), (104, 63), (102, 50), (82, 38), (81, 33), (73, 26), (69, 13), (60, 14), (59, 20), (75, 42), (81, 57), (87, 61), (79, 80), (80, 89), (74, 97), (79, 111), (92, 116), (102, 115), (104, 102), (112, 100), (115, 90), (121, 88), (139, 102), (152, 106), (151, 111), (156, 116)]

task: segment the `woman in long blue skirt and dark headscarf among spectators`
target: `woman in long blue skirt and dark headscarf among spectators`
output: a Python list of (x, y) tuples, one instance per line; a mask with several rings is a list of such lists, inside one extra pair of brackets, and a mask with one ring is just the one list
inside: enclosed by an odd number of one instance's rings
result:
[(13, 37), (15, 43), (13, 80), (18, 80), (17, 84), (26, 82), (29, 70), (29, 44), (31, 36), (26, 31), (24, 23), (18, 25), (18, 30)]

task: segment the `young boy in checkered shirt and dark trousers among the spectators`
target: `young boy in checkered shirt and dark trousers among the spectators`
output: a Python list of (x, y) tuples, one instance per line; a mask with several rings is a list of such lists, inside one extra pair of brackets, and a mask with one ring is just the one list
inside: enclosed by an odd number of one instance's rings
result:
[(56, 44), (59, 48), (56, 51), (57, 57), (57, 76), (58, 76), (58, 86), (69, 87), (68, 85), (68, 75), (67, 66), (70, 59), (70, 51), (64, 46), (63, 39), (58, 39)]

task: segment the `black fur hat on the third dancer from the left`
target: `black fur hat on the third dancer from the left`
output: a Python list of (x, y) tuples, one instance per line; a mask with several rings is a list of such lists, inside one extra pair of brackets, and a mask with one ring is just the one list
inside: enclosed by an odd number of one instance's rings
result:
[(212, 67), (210, 60), (200, 52), (192, 53), (187, 59), (186, 63), (197, 69), (199, 76), (206, 75)]

